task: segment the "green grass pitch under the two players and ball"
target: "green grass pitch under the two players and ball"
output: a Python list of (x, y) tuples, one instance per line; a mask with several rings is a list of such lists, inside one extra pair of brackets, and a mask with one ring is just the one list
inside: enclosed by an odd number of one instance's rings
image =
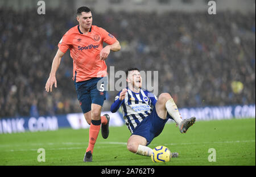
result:
[[(49, 132), (0, 134), (0, 165), (46, 166), (177, 166), (177, 165), (253, 165), (255, 166), (255, 119), (197, 121), (181, 134), (174, 123), (166, 124), (163, 132), (150, 145), (167, 146), (180, 155), (166, 163), (153, 163), (150, 157), (127, 150), (130, 136), (126, 126), (110, 127), (108, 139), (98, 135), (93, 162), (84, 163), (89, 129), (70, 128)], [(38, 149), (46, 151), (46, 162), (38, 162)], [(208, 150), (216, 150), (216, 162), (209, 162)]]

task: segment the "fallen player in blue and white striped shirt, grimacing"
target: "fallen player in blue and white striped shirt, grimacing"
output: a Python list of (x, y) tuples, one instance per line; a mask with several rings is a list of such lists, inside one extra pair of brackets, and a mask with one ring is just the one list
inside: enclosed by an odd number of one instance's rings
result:
[[(196, 117), (181, 119), (179, 110), (168, 93), (162, 93), (159, 98), (143, 90), (141, 73), (137, 68), (126, 71), (127, 88), (123, 88), (111, 106), (110, 111), (116, 112), (122, 107), (123, 119), (131, 136), (127, 141), (127, 149), (132, 153), (150, 156), (152, 149), (147, 147), (150, 142), (162, 132), (168, 119), (173, 119), (181, 133), (186, 133), (196, 121)], [(152, 108), (153, 106), (154, 108)], [(172, 153), (172, 158), (178, 153)]]

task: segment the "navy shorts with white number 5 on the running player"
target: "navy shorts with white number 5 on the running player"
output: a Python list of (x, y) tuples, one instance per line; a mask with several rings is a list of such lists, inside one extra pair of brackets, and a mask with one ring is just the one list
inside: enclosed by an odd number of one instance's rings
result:
[(108, 78), (92, 78), (87, 81), (74, 82), (82, 112), (91, 110), (92, 103), (103, 105), (106, 99), (106, 88), (108, 88)]

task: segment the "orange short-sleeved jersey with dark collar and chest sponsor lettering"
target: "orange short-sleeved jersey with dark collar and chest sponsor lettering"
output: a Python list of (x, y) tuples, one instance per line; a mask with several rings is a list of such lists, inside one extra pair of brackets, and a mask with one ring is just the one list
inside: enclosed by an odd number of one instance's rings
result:
[(76, 82), (86, 81), (96, 77), (106, 77), (107, 66), (100, 60), (103, 42), (112, 45), (117, 41), (105, 29), (93, 26), (86, 34), (82, 33), (79, 25), (69, 29), (59, 42), (59, 49), (66, 53), (70, 50), (73, 58), (73, 79)]

